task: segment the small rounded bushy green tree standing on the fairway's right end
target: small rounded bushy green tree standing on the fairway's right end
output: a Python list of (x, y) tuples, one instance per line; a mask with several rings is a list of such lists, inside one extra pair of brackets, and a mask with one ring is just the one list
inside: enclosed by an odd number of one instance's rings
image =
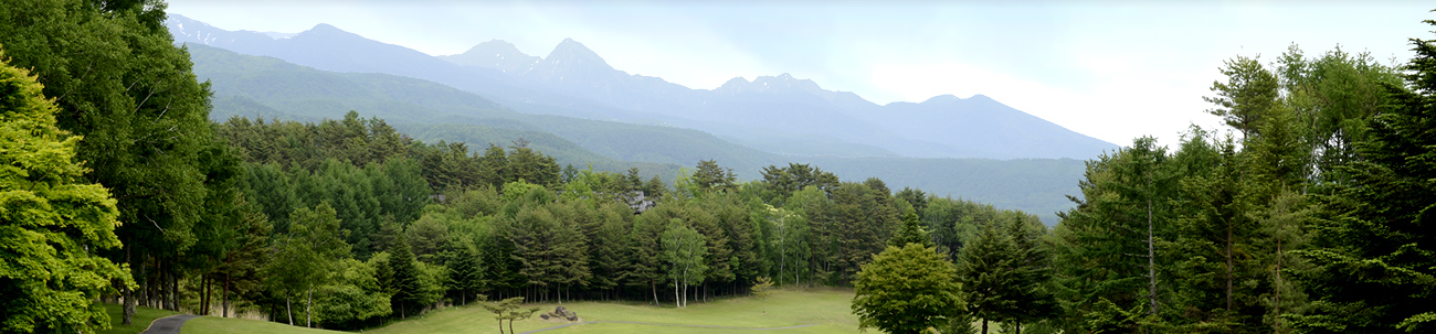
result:
[(933, 248), (887, 247), (853, 281), (860, 328), (922, 333), (964, 311), (956, 268)]

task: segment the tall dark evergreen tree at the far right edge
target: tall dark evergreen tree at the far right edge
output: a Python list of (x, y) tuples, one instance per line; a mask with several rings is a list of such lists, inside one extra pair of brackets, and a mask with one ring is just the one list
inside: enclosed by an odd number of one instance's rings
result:
[[(1436, 26), (1436, 20), (1426, 20)], [(1387, 86), (1387, 105), (1340, 166), (1350, 182), (1323, 201), (1334, 214), (1313, 224), (1315, 265), (1302, 272), (1313, 297), (1305, 333), (1430, 333), (1436, 330), (1436, 43), (1412, 39), (1407, 87)]]

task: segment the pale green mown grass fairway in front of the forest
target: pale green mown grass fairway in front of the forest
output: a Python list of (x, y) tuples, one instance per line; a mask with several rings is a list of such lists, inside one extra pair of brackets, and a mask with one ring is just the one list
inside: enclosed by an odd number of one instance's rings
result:
[[(672, 292), (672, 291), (669, 291)], [(816, 324), (811, 327), (768, 330), (763, 333), (857, 333), (857, 317), (849, 310), (853, 300), (852, 290), (780, 290), (768, 297), (768, 312), (761, 312), (761, 302), (757, 298), (738, 297), (717, 300), (712, 302), (689, 302), (688, 308), (652, 307), (642, 302), (597, 302), (580, 301), (564, 302), (563, 305), (579, 312), (584, 321), (638, 321), (658, 324), (684, 325), (724, 325), (724, 327), (790, 327)], [(524, 307), (540, 307), (544, 312), (553, 311), (557, 304), (527, 304)], [(537, 315), (531, 320), (516, 321), (514, 330), (518, 333), (549, 328), (567, 324), (566, 321), (543, 321)], [(508, 331), (507, 324), (504, 331)], [(546, 334), (560, 333), (735, 333), (735, 328), (701, 328), (646, 324), (580, 324)], [(251, 320), (202, 317), (185, 323), (184, 334), (211, 333), (335, 333), (322, 330), (307, 330), (277, 323), (263, 323)], [(455, 307), (428, 312), (424, 317), (396, 321), (381, 328), (365, 330), (376, 334), (401, 333), (432, 333), (432, 334), (497, 334), (498, 321), (493, 314), (484, 311), (477, 304)]]

